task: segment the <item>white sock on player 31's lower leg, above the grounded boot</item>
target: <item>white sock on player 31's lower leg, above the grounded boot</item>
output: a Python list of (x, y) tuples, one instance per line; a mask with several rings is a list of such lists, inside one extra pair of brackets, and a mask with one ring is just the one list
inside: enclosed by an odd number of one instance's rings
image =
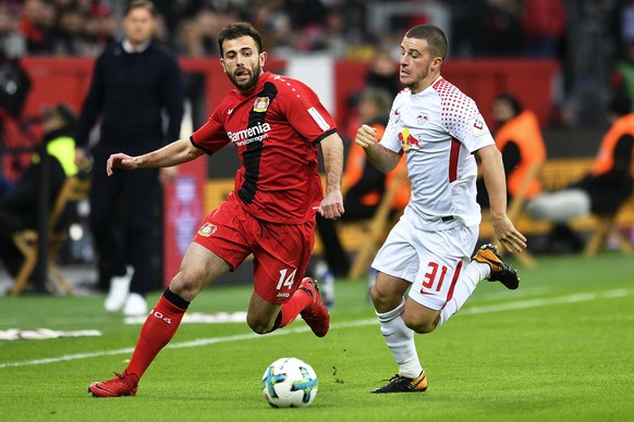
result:
[(399, 364), (399, 373), (409, 378), (415, 378), (423, 371), (423, 367), (420, 367), (414, 344), (414, 331), (407, 328), (403, 321), (404, 309), (405, 300), (403, 299), (395, 309), (386, 313), (377, 312), (377, 318), (381, 323), (381, 334)]

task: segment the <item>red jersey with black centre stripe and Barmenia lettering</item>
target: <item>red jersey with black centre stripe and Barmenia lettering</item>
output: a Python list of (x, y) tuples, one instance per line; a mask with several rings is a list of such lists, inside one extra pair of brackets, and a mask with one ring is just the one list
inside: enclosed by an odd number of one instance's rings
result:
[(330, 113), (303, 83), (266, 72), (246, 95), (231, 91), (192, 144), (208, 154), (232, 142), (240, 169), (236, 195), (257, 219), (298, 224), (324, 198), (317, 144), (337, 131)]

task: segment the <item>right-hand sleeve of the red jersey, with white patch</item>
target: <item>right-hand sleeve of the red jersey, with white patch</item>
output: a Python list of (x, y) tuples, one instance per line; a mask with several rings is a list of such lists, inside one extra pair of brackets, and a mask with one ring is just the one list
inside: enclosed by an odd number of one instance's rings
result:
[(334, 120), (308, 86), (284, 78), (278, 84), (278, 89), (280, 111), (305, 139), (318, 144), (337, 131)]

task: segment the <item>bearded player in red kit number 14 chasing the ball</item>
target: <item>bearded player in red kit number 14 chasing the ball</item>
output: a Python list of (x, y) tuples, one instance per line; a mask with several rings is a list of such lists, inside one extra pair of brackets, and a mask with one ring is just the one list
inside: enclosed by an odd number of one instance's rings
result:
[[(247, 23), (218, 37), (220, 63), (235, 86), (188, 139), (153, 152), (110, 156), (114, 169), (164, 167), (212, 154), (228, 144), (241, 166), (235, 188), (200, 224), (179, 273), (149, 313), (130, 364), (112, 380), (90, 384), (96, 397), (133, 396), (138, 380), (175, 334), (190, 302), (220, 275), (254, 256), (254, 291), (247, 324), (258, 334), (290, 324), (298, 314), (322, 337), (330, 316), (317, 284), (303, 278), (313, 252), (315, 214), (343, 214), (343, 145), (317, 95), (298, 80), (264, 71), (267, 53)], [(318, 174), (318, 145), (326, 194)]]

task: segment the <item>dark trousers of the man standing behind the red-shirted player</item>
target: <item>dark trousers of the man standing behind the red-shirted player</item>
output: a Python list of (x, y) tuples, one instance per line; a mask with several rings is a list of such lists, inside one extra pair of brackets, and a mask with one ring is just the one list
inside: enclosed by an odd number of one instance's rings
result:
[(105, 160), (95, 160), (90, 189), (90, 231), (99, 259), (112, 275), (134, 268), (131, 293), (145, 295), (151, 286), (158, 170), (114, 170), (108, 177)]

